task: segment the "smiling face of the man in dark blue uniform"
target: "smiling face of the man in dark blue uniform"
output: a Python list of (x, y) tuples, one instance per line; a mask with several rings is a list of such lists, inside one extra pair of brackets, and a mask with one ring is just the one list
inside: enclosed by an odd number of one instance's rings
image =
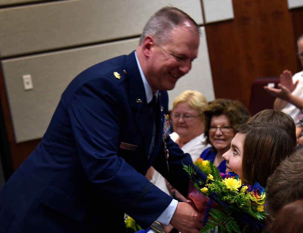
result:
[(178, 26), (171, 31), (167, 42), (151, 47), (145, 77), (153, 92), (173, 89), (177, 80), (191, 69), (200, 40), (192, 27)]

